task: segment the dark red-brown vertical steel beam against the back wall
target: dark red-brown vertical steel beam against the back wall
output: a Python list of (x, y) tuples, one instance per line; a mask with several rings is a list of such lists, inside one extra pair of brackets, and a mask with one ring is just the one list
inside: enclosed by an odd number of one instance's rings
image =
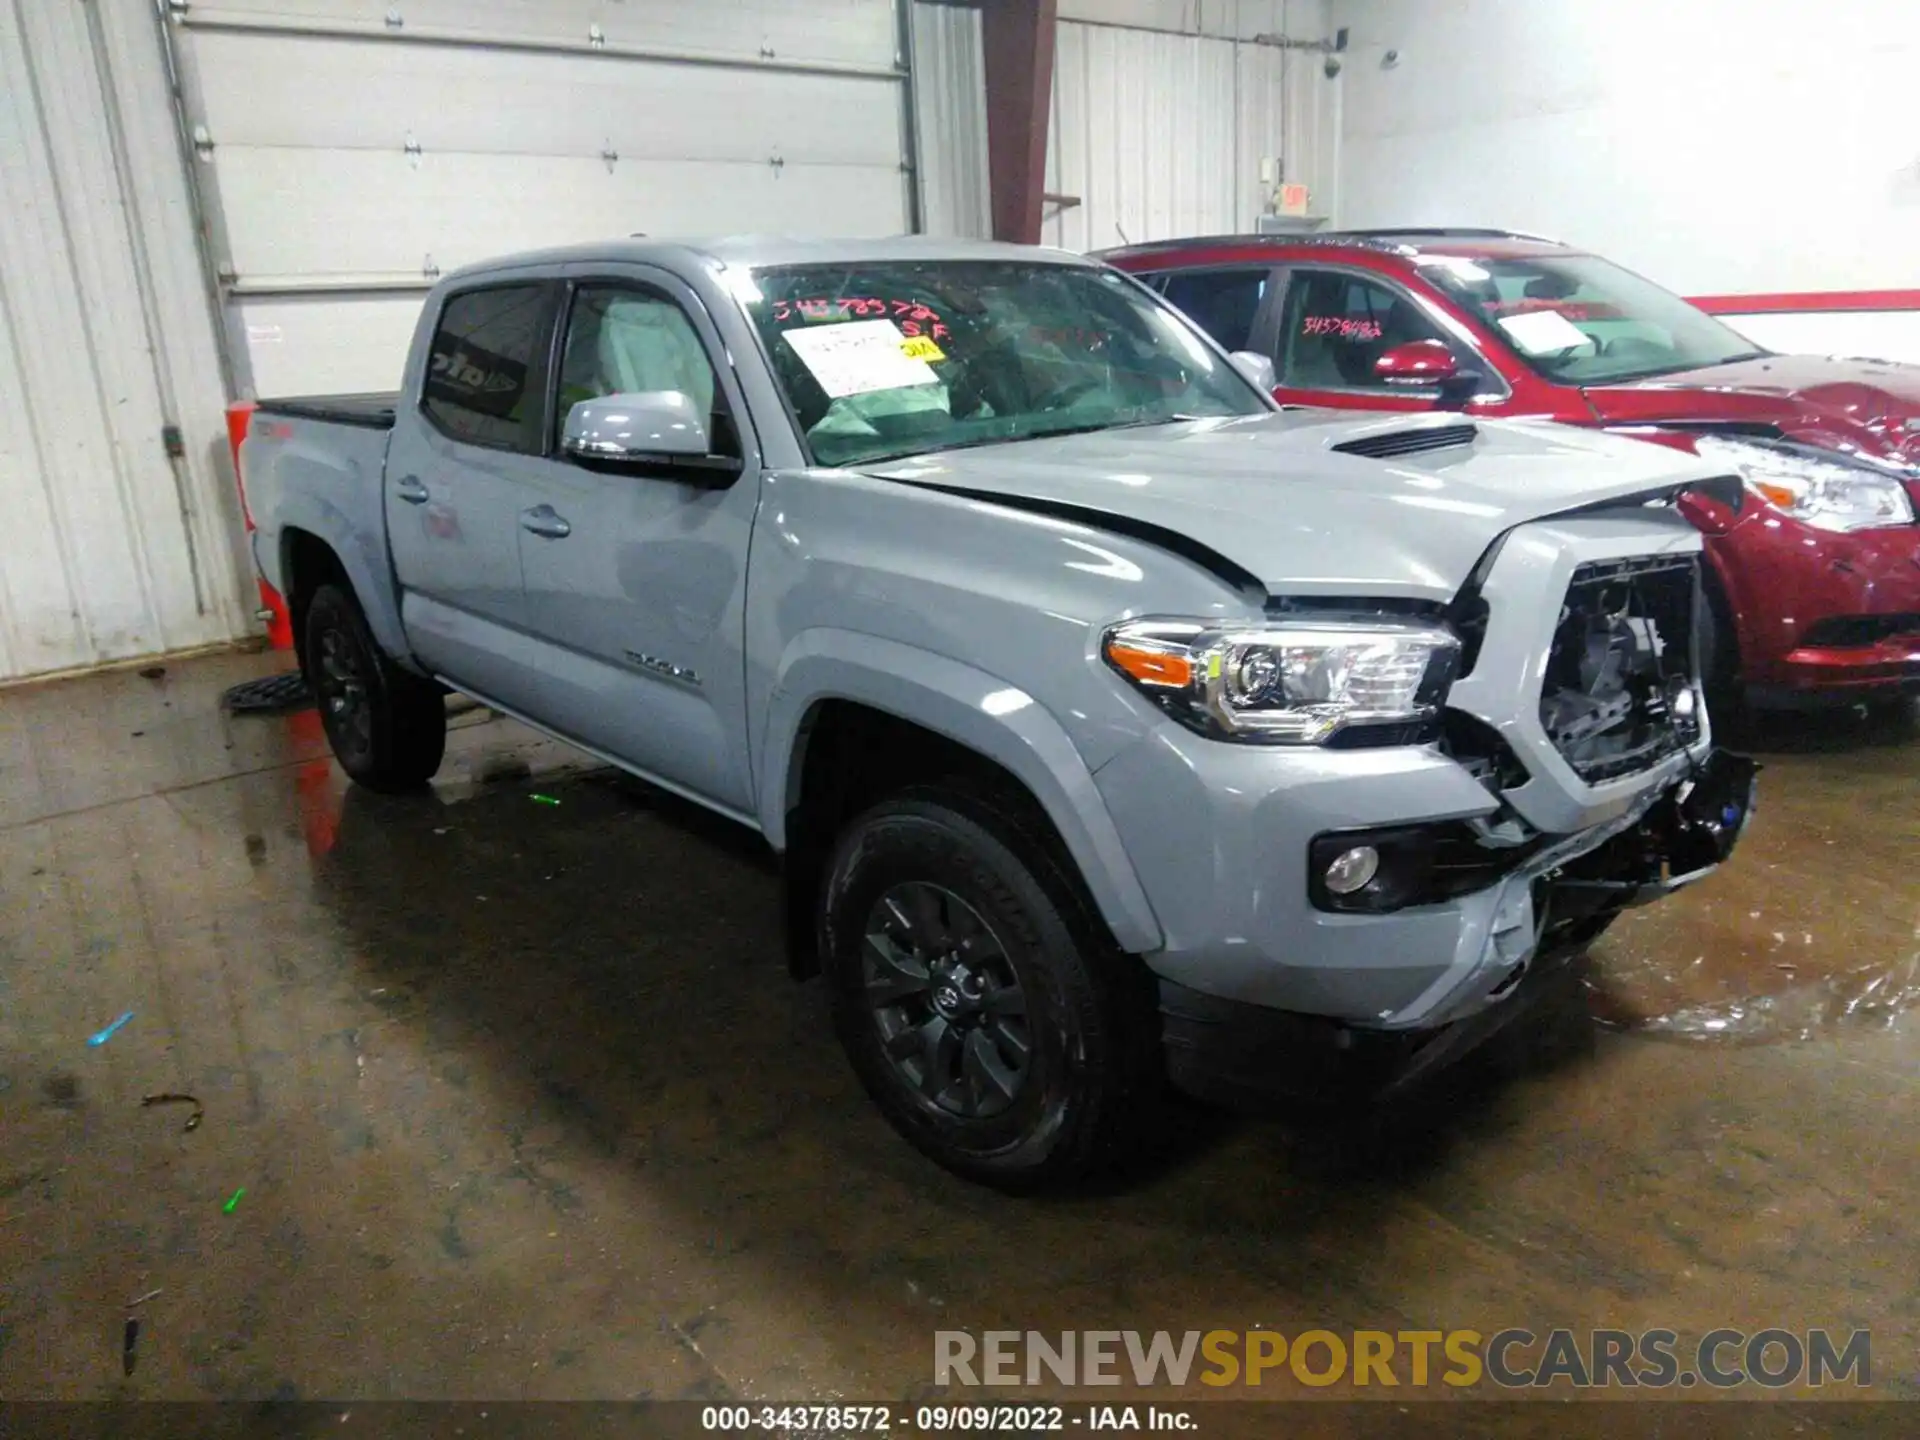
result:
[(985, 0), (981, 6), (995, 240), (1027, 246), (1041, 240), (1056, 13), (1056, 0)]

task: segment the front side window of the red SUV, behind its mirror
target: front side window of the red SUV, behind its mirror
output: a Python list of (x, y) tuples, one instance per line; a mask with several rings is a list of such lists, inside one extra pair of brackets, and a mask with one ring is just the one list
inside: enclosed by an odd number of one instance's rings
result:
[(1273, 397), (1283, 405), (1334, 409), (1428, 411), (1432, 386), (1388, 384), (1375, 363), (1388, 349), (1413, 340), (1438, 340), (1461, 369), (1488, 376), (1501, 388), (1492, 365), (1478, 357), (1434, 315), (1430, 301), (1392, 280), (1336, 267), (1296, 265), (1286, 271), (1273, 336)]

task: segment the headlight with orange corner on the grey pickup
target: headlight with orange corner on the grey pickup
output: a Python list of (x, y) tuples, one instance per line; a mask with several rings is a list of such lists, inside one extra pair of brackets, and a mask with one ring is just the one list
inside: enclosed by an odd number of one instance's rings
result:
[(1428, 737), (1459, 639), (1388, 624), (1131, 620), (1106, 632), (1100, 653), (1200, 733), (1390, 745)]

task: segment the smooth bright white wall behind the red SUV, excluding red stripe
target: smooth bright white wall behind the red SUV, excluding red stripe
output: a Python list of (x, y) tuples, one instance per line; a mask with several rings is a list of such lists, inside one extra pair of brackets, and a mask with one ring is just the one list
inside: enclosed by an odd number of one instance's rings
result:
[(1912, 0), (1336, 0), (1334, 23), (1344, 225), (1536, 230), (1695, 296), (1914, 284)]

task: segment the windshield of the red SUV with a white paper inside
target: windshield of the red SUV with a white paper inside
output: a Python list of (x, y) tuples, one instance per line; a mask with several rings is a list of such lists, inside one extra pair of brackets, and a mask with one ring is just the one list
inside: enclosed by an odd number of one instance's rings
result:
[(1425, 255), (1419, 267), (1549, 380), (1645, 380), (1764, 353), (1680, 296), (1594, 255)]

